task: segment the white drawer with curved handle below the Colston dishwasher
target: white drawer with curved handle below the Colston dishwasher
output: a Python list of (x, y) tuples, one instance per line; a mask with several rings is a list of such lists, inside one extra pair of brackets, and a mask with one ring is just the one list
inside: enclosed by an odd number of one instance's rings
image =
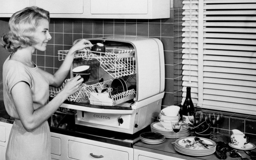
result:
[[(91, 154), (91, 155), (90, 155)], [(78, 160), (95, 159), (93, 156), (103, 156), (101, 160), (128, 160), (129, 153), (77, 141), (68, 141), (68, 158)]]

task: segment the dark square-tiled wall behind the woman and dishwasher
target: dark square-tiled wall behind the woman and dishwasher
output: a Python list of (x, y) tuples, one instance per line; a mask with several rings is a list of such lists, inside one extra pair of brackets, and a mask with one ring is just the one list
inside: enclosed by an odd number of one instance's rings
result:
[[(170, 1), (169, 19), (51, 19), (49, 31), (52, 39), (45, 52), (34, 53), (33, 61), (47, 72), (54, 73), (62, 62), (58, 60), (57, 51), (68, 50), (76, 39), (106, 36), (158, 38), (164, 46), (165, 60), (165, 95), (162, 106), (180, 104), (182, 1)], [(2, 27), (7, 28), (7, 23), (4, 25)]]

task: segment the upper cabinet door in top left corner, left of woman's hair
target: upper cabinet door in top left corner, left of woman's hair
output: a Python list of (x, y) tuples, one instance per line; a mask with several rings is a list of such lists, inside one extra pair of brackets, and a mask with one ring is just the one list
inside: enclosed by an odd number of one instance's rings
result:
[(25, 7), (29, 7), (29, 0), (0, 0), (0, 13), (15, 13)]

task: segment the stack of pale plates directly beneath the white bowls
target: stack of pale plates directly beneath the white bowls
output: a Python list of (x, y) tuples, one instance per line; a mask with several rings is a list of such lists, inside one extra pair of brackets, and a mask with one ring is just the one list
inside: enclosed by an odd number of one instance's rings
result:
[[(164, 135), (165, 138), (169, 138), (169, 139), (175, 139), (175, 132), (170, 129), (165, 129), (162, 124), (160, 122), (154, 122), (150, 125), (151, 127), (151, 131), (154, 133), (160, 133), (162, 135)], [(177, 138), (181, 138), (181, 137), (187, 137), (190, 135), (190, 130), (188, 127), (182, 126), (182, 128), (180, 129), (180, 131), (177, 133)]]

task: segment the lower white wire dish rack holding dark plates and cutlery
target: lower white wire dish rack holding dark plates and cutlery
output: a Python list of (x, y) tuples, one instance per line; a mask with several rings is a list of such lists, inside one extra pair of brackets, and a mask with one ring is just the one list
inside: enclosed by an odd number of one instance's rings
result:
[[(59, 88), (51, 87), (50, 96), (55, 97), (58, 93), (60, 93), (68, 80), (69, 79), (66, 79)], [(89, 99), (90, 104), (114, 106), (135, 98), (134, 89), (111, 95), (110, 92), (112, 88), (107, 87), (111, 84), (111, 82), (112, 80), (110, 79), (108, 81), (103, 81), (92, 85), (83, 84), (82, 88), (75, 94), (69, 96), (67, 100), (73, 102), (81, 102)], [(108, 92), (97, 93), (95, 88), (97, 88), (98, 91), (107, 88)]]

